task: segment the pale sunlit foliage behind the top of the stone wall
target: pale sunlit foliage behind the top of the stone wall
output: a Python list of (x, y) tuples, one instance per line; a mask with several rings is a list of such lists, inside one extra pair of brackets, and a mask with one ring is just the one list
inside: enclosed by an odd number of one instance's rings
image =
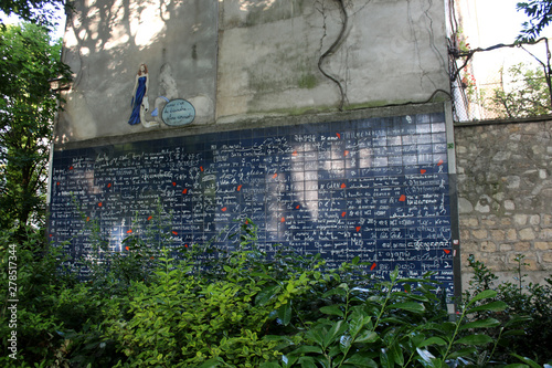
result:
[[(491, 109), (502, 118), (523, 118), (552, 114), (546, 75), (541, 67), (516, 64), (501, 70), (502, 85), (490, 96)], [(505, 84), (508, 82), (508, 87)]]

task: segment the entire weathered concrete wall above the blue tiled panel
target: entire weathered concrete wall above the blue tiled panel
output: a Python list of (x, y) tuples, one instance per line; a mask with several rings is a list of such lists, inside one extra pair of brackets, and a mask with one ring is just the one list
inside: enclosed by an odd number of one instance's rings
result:
[[(75, 80), (55, 143), (425, 102), (449, 90), (443, 2), (75, 1), (64, 52)], [(191, 125), (127, 124), (140, 63), (148, 113), (160, 96), (184, 98)]]

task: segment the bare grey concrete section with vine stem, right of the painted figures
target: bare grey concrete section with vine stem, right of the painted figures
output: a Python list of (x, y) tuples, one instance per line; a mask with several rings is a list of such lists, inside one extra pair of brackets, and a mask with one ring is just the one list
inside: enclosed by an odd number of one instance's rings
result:
[(422, 102), (448, 91), (442, 2), (344, 3), (343, 13), (335, 0), (221, 2), (220, 122), (327, 111), (342, 98), (346, 108)]

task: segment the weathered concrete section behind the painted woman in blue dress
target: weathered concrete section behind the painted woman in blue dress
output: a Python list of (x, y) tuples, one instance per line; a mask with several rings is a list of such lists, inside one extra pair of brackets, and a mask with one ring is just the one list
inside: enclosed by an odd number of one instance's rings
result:
[[(81, 0), (68, 17), (63, 61), (75, 80), (64, 96), (55, 143), (147, 132), (130, 126), (140, 63), (149, 70), (150, 112), (159, 96), (185, 98), (195, 124), (214, 119), (216, 0)], [(149, 116), (151, 120), (153, 117)], [(153, 129), (168, 129), (164, 124)]]

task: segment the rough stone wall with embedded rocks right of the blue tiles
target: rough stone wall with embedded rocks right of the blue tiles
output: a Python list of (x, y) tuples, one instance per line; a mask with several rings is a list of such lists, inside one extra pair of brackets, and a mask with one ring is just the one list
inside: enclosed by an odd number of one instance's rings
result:
[(484, 262), (500, 278), (524, 255), (527, 281), (552, 274), (552, 122), (455, 126), (463, 284)]

